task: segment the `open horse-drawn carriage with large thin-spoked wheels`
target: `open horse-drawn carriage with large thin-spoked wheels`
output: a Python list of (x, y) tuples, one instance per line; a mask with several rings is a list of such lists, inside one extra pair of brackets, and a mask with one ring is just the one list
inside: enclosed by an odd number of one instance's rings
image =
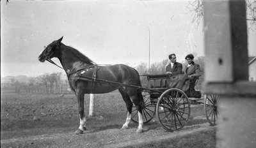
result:
[[(167, 131), (183, 128), (188, 122), (191, 105), (204, 105), (205, 117), (211, 126), (218, 119), (217, 94), (204, 94), (201, 98), (189, 98), (186, 93), (177, 88), (168, 87), (168, 75), (143, 75), (147, 77), (148, 88), (142, 91), (143, 121), (150, 122), (154, 115), (161, 126)], [(138, 122), (135, 106), (132, 109), (132, 121)]]

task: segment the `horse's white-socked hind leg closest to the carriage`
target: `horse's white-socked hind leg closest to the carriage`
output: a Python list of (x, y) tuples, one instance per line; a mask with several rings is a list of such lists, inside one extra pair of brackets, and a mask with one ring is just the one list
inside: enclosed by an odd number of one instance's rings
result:
[(142, 133), (143, 131), (143, 119), (142, 119), (142, 103), (143, 103), (143, 96), (141, 92), (134, 88), (128, 88), (127, 93), (129, 94), (132, 102), (136, 106), (136, 109), (138, 110), (138, 117), (139, 117), (139, 126), (137, 129), (137, 133)]

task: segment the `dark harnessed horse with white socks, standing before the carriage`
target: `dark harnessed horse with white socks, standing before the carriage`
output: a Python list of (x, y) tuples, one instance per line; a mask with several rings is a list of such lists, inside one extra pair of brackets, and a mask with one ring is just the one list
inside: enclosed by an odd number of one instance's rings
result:
[[(136, 106), (138, 111), (139, 126), (136, 133), (143, 132), (143, 119), (142, 119), (142, 103), (143, 96), (141, 90), (136, 87), (129, 87), (127, 85), (113, 85), (111, 83), (97, 82), (96, 78), (108, 80), (112, 82), (118, 82), (120, 84), (137, 85), (141, 86), (140, 75), (138, 71), (125, 64), (115, 64), (110, 66), (98, 66), (93, 63), (91, 59), (81, 54), (73, 47), (69, 47), (61, 43), (63, 36), (59, 40), (52, 41), (38, 56), (38, 60), (42, 63), (44, 61), (51, 61), (52, 57), (56, 57), (60, 60), (60, 63), (65, 70), (68, 77), (68, 84), (77, 97), (78, 112), (79, 112), (79, 128), (76, 130), (76, 134), (82, 134), (86, 131), (86, 117), (84, 115), (84, 94), (102, 94), (109, 93), (118, 89), (125, 101), (127, 108), (127, 117), (125, 123), (121, 129), (127, 129), (128, 124), (131, 121), (132, 103)], [(55, 63), (54, 63), (55, 64)], [(97, 67), (97, 68), (95, 68)], [(97, 73), (93, 71), (97, 69)], [(83, 75), (97, 74), (92, 80), (83, 80), (77, 78), (77, 73)], [(88, 76), (86, 75), (86, 76)], [(93, 75), (91, 76), (93, 78)]]

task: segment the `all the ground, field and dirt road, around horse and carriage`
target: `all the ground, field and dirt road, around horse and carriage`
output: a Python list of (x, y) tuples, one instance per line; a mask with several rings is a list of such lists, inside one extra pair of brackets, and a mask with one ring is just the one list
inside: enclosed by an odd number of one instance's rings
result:
[[(89, 95), (85, 95), (88, 114)], [(34, 121), (33, 117), (39, 121)], [(120, 129), (125, 122), (125, 103), (118, 92), (95, 96), (95, 117), (88, 117), (87, 131), (79, 126), (74, 94), (1, 94), (1, 147), (215, 147), (216, 129), (204, 117), (204, 107), (191, 108), (188, 124), (180, 131), (165, 131), (157, 119)]]

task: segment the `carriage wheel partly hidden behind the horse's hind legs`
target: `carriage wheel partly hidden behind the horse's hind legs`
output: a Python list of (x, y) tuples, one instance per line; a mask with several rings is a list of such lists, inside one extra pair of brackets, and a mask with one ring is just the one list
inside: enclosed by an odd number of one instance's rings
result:
[[(147, 123), (154, 118), (156, 112), (156, 105), (151, 103), (150, 94), (147, 90), (143, 90), (141, 94), (144, 100), (144, 103), (142, 103), (142, 119), (143, 123)], [(139, 122), (138, 111), (134, 104), (132, 104), (131, 120), (135, 123)]]

